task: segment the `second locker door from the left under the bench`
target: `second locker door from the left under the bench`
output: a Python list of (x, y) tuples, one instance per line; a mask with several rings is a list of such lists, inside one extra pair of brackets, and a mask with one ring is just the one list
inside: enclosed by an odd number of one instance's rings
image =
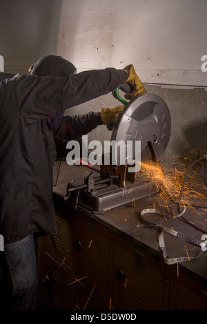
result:
[[(81, 309), (90, 305), (94, 296), (98, 307), (106, 310), (111, 294), (112, 232), (96, 221), (77, 213), (75, 215), (75, 240), (73, 243), (75, 280), (74, 304)], [(82, 301), (84, 295), (85, 301)], [(97, 302), (99, 300), (99, 302)], [(85, 302), (85, 305), (83, 303)], [(87, 305), (86, 309), (88, 309)], [(92, 307), (92, 305), (91, 305)]]

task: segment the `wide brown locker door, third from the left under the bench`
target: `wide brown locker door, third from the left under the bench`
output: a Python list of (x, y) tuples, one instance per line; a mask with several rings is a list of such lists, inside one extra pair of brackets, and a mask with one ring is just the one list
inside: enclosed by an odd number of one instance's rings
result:
[(164, 261), (115, 235), (113, 273), (115, 310), (162, 310)]

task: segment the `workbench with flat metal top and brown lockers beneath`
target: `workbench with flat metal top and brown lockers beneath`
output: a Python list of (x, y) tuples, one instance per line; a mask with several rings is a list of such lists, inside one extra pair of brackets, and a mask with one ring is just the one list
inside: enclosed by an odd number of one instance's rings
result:
[[(139, 228), (140, 213), (157, 208), (172, 213), (175, 203), (160, 205), (159, 194), (97, 214), (64, 201), (70, 181), (90, 173), (83, 165), (56, 162), (53, 196), (57, 235), (39, 240), (39, 299), (55, 310), (205, 310), (207, 252), (197, 259), (167, 265), (159, 231)], [(204, 209), (187, 207), (188, 221), (207, 232)], [(202, 232), (179, 219), (160, 219), (186, 236)], [(168, 258), (197, 256), (200, 247), (164, 233)], [(89, 298), (90, 297), (90, 298)]]

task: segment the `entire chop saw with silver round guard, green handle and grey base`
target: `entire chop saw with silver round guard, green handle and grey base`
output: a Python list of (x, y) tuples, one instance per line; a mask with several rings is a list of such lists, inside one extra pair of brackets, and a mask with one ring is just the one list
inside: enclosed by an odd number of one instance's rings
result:
[[(119, 96), (119, 90), (130, 92), (126, 85), (112, 92), (125, 107), (113, 125), (111, 141), (122, 141), (126, 147), (129, 141), (140, 141), (141, 163), (157, 165), (170, 139), (168, 105), (155, 94), (141, 94), (129, 102), (125, 101)], [(139, 172), (129, 172), (127, 150), (124, 151), (125, 163), (121, 163), (123, 156), (119, 154), (116, 163), (112, 163), (112, 150), (110, 147), (110, 163), (102, 164), (99, 173), (90, 172), (84, 179), (68, 183), (65, 200), (77, 201), (78, 197), (80, 205), (94, 213), (102, 213), (159, 191), (161, 183), (146, 179), (141, 168)], [(135, 159), (134, 151), (132, 159)]]

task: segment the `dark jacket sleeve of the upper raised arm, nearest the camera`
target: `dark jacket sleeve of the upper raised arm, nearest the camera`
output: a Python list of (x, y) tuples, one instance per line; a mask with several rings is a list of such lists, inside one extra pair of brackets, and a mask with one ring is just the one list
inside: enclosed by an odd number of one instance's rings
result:
[(90, 70), (68, 77), (14, 77), (19, 112), (28, 122), (54, 117), (114, 90), (128, 78), (124, 70)]

